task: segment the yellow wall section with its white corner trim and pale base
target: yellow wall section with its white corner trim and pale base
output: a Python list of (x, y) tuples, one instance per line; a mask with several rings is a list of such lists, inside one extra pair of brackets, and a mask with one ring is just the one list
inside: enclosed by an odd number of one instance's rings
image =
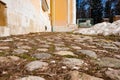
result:
[(53, 31), (76, 29), (76, 0), (51, 0)]

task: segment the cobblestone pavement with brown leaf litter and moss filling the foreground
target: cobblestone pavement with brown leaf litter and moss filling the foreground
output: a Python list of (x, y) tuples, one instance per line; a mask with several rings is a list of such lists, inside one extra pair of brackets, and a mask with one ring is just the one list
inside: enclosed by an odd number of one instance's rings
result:
[(0, 38), (0, 80), (120, 80), (120, 42), (72, 33)]

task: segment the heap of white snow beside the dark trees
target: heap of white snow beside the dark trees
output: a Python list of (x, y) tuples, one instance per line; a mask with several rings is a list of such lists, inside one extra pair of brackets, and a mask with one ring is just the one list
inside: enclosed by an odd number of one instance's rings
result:
[(82, 28), (74, 33), (81, 33), (87, 35), (120, 35), (120, 20), (113, 23), (103, 22), (94, 25), (91, 28)]

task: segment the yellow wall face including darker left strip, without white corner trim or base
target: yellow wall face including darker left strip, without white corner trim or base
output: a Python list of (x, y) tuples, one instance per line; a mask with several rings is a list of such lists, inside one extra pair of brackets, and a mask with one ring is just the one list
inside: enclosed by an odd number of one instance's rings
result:
[(68, 0), (51, 0), (51, 20), (53, 26), (68, 24)]

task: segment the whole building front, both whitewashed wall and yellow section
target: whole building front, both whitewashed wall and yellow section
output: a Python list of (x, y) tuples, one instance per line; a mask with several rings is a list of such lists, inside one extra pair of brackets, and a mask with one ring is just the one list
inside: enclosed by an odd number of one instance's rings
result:
[(0, 36), (70, 31), (76, 0), (0, 0)]

